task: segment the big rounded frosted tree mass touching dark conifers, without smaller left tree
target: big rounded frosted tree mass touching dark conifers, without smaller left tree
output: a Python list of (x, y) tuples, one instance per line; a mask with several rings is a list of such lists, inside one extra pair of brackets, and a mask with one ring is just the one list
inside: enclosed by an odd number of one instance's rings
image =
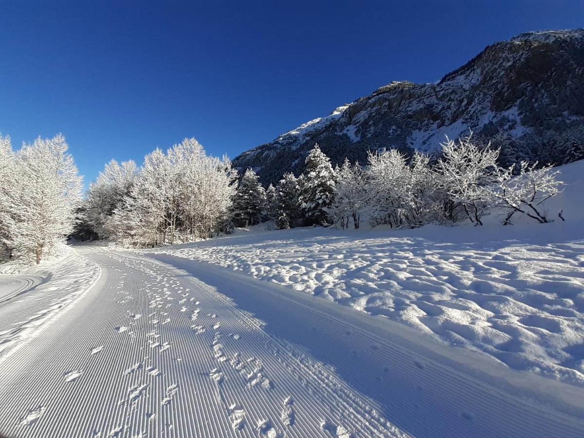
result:
[(114, 240), (132, 246), (209, 238), (230, 228), (234, 180), (226, 157), (208, 157), (199, 142), (186, 138), (166, 154), (157, 149), (144, 158), (106, 228)]

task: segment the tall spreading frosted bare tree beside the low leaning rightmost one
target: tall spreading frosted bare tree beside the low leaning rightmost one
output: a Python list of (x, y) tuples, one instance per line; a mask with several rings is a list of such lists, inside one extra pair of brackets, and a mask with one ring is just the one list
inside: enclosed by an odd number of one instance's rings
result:
[(484, 186), (497, 182), (499, 150), (481, 148), (471, 141), (471, 136), (442, 144), (443, 158), (437, 164), (440, 178), (436, 183), (452, 199), (450, 217), (468, 218), (482, 225), (481, 217), (488, 212), (489, 192)]

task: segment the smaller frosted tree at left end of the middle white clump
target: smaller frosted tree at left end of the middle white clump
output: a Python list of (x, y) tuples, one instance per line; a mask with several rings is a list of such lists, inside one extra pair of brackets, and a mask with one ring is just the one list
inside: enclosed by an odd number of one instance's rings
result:
[(119, 165), (113, 159), (89, 186), (83, 217), (100, 238), (109, 237), (106, 222), (124, 197), (130, 194), (136, 172), (134, 161), (124, 161)]

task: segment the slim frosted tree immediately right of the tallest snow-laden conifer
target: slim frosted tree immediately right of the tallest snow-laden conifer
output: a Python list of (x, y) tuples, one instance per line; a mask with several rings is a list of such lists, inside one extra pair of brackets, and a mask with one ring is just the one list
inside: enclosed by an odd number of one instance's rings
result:
[(348, 228), (350, 221), (355, 229), (359, 228), (361, 215), (367, 207), (367, 183), (363, 168), (356, 162), (351, 165), (345, 159), (343, 166), (336, 171), (335, 200), (328, 208), (328, 214), (333, 223), (339, 223), (342, 228)]

